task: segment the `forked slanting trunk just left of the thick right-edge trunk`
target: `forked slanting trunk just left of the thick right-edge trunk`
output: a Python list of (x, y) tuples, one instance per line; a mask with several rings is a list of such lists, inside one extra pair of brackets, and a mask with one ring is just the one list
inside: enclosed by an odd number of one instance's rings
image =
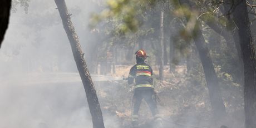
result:
[[(200, 16), (200, 19), (204, 21), (205, 24), (207, 24), (211, 29), (213, 29), (216, 33), (218, 33), (220, 36), (222, 36), (226, 43), (227, 43), (227, 50), (230, 53), (235, 53), (237, 54), (237, 58), (239, 59), (239, 66), (235, 71), (234, 79), (235, 81), (239, 83), (243, 83), (243, 77), (240, 77), (240, 72), (243, 72), (243, 63), (242, 60), (240, 59), (241, 56), (241, 50), (240, 50), (240, 45), (239, 45), (239, 38), (238, 38), (238, 32), (235, 30), (235, 24), (233, 23), (232, 20), (230, 20), (230, 9), (232, 5), (230, 4), (229, 0), (224, 0), (225, 3), (223, 3), (223, 7), (221, 8), (220, 11), (224, 14), (224, 16), (228, 19), (226, 26), (221, 25), (219, 23), (218, 18), (214, 15), (211, 14), (203, 14)], [(196, 6), (195, 2), (190, 1), (192, 6)], [(201, 12), (203, 13), (203, 12)], [(235, 58), (236, 59), (236, 58)], [(233, 61), (237, 61), (233, 58)]]

